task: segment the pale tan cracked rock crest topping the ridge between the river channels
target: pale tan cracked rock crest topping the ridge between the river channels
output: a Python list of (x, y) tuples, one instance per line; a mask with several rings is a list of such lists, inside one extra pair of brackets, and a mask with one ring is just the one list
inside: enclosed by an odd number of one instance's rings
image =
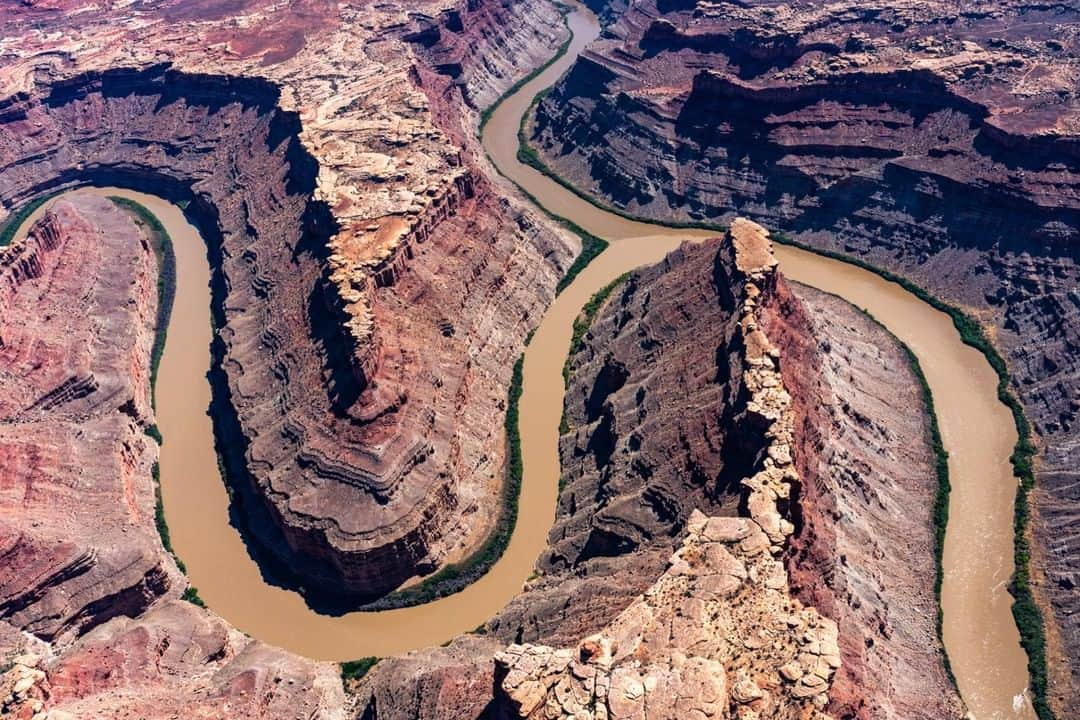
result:
[[(684, 247), (667, 262), (710, 282), (713, 302), (701, 304), (712, 312), (696, 320), (726, 330), (718, 348), (705, 343), (699, 353), (727, 365), (735, 421), (725, 430), (757, 446), (744, 445), (740, 463), (714, 473), (738, 484), (742, 516), (691, 514), (681, 546), (644, 596), (577, 648), (511, 646), (496, 657), (501, 689), (527, 718), (827, 717), (822, 710), (840, 667), (837, 626), (792, 597), (780, 559), (795, 530), (789, 513), (800, 480), (792, 397), (780, 351), (761, 328), (778, 283), (768, 236), (739, 219), (723, 244)], [(643, 280), (649, 314), (642, 326), (661, 325), (662, 312), (651, 316), (651, 291), (664, 288)], [(697, 324), (683, 327), (691, 335)], [(648, 347), (640, 331), (630, 335)], [(697, 417), (724, 415), (723, 404), (705, 407)]]

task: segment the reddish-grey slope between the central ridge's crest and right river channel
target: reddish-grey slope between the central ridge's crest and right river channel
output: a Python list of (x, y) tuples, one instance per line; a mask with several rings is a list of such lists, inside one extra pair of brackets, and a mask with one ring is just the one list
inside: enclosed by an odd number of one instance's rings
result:
[(802, 478), (792, 586), (840, 627), (831, 711), (962, 717), (934, 624), (936, 476), (906, 355), (848, 302), (801, 285), (778, 288), (765, 328), (792, 393)]

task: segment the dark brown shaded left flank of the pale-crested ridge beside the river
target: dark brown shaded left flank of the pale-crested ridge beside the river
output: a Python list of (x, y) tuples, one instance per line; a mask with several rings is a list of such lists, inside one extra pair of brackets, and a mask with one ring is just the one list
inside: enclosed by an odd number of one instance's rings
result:
[(550, 549), (492, 623), (501, 637), (598, 630), (653, 584), (694, 510), (739, 513), (766, 439), (741, 394), (732, 262), (730, 248), (684, 248), (633, 273), (590, 327), (569, 366)]

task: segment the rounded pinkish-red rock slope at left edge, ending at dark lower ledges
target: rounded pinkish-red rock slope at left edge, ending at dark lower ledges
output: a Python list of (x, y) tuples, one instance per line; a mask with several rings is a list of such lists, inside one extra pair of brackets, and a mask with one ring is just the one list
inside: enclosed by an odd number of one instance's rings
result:
[(158, 270), (146, 239), (98, 198), (59, 204), (0, 263), (0, 617), (69, 638), (137, 615), (175, 580), (146, 481), (157, 445), (141, 425)]

